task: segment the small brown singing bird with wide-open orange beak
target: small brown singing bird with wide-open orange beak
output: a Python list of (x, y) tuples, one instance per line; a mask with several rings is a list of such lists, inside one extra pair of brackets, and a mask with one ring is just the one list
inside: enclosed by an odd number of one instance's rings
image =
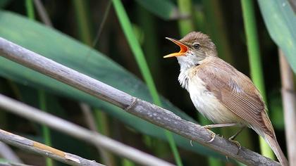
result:
[(181, 87), (187, 89), (199, 113), (216, 124), (206, 128), (250, 127), (269, 143), (280, 163), (288, 165), (276, 141), (265, 103), (251, 79), (218, 58), (215, 44), (202, 32), (190, 32), (180, 40), (166, 39), (180, 46), (178, 53), (164, 58), (178, 59)]

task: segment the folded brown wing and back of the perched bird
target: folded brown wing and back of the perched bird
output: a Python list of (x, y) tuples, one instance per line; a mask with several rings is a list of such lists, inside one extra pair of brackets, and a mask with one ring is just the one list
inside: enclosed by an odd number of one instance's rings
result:
[(264, 101), (249, 77), (222, 60), (202, 65), (197, 67), (195, 75), (202, 79), (223, 106), (250, 125), (256, 125), (273, 136)]

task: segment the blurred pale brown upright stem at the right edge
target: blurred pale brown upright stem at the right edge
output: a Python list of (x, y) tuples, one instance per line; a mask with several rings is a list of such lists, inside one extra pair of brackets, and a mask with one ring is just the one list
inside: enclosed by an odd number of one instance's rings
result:
[(283, 51), (280, 56), (280, 76), (282, 80), (283, 112), (285, 117), (285, 139), (288, 148), (290, 165), (296, 165), (296, 96), (293, 82), (293, 72), (285, 59)]

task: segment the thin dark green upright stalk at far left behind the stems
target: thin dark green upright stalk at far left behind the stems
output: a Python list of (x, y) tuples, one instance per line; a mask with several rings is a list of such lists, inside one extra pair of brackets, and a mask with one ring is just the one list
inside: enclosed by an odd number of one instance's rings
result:
[[(25, 4), (27, 10), (27, 17), (30, 20), (35, 20), (33, 0), (26, 0)], [(38, 90), (38, 101), (40, 110), (47, 111), (47, 97), (44, 91), (42, 90)], [(46, 125), (42, 125), (42, 136), (44, 138), (44, 143), (47, 146), (51, 146), (51, 134), (49, 127), (47, 127)], [(45, 161), (47, 163), (47, 166), (54, 165), (53, 160), (51, 160), (51, 158), (46, 158)]]

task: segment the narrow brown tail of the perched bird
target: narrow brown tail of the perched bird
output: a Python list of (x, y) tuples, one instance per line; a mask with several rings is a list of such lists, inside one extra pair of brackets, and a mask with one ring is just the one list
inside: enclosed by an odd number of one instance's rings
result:
[(273, 153), (276, 154), (276, 158), (278, 158), (280, 164), (283, 166), (289, 166), (287, 158), (285, 158), (283, 151), (280, 149), (280, 146), (278, 145), (278, 141), (276, 141), (276, 135), (270, 136), (269, 134), (264, 133), (263, 137), (265, 141), (269, 143), (269, 146), (271, 147)]

